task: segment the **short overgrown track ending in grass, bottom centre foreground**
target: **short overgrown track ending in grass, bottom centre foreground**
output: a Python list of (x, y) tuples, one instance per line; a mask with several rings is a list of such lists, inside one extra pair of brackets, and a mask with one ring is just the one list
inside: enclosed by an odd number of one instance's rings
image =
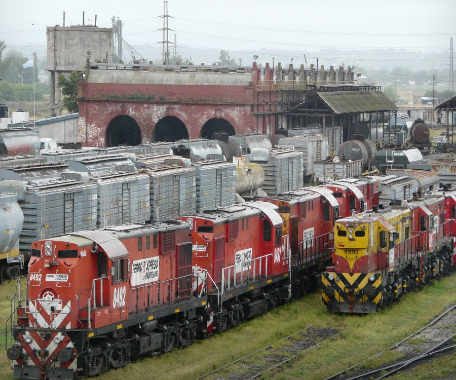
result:
[[(271, 345), (214, 369), (199, 377), (198, 380), (204, 378), (217, 378), (217, 380), (249, 380), (259, 378), (279, 366), (293, 361), (306, 351), (317, 347), (327, 339), (341, 334), (341, 332), (338, 329), (310, 325), (275, 341)], [(220, 373), (222, 371), (228, 371), (228, 373)]]

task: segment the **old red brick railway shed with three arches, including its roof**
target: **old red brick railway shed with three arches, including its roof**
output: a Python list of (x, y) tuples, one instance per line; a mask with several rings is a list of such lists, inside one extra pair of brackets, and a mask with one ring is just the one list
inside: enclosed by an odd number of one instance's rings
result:
[[(85, 146), (137, 145), (211, 138), (215, 132), (274, 134), (295, 127), (324, 129), (325, 123), (348, 125), (356, 119), (354, 114), (341, 116), (331, 104), (321, 109), (325, 102), (317, 87), (335, 85), (330, 90), (336, 91), (340, 84), (353, 83), (350, 67), (90, 64), (86, 80), (79, 83), (78, 140)], [(351, 85), (340, 90), (363, 93), (361, 97), (375, 91), (377, 97), (385, 97), (378, 88)], [(364, 103), (343, 112), (394, 107), (391, 102), (379, 107)]]

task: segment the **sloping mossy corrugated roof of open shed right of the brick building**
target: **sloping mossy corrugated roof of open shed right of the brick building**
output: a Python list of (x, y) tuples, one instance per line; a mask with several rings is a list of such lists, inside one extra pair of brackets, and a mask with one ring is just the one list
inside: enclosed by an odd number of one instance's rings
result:
[(398, 109), (381, 91), (317, 91), (317, 95), (338, 115)]

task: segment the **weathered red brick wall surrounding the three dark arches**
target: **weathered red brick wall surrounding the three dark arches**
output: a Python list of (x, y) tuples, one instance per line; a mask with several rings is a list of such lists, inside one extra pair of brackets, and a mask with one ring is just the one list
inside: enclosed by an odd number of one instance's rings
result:
[(257, 94), (254, 86), (109, 83), (80, 83), (79, 98), (78, 138), (84, 146), (104, 146), (109, 122), (120, 115), (136, 120), (143, 143), (153, 141), (154, 127), (165, 116), (179, 118), (190, 138), (200, 137), (201, 128), (212, 118), (227, 120), (236, 133), (265, 133), (269, 116), (253, 111), (275, 110), (277, 102), (275, 94)]

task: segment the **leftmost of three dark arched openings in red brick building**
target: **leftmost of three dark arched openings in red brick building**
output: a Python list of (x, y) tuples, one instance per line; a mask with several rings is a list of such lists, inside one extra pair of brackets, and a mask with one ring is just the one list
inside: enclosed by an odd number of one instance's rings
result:
[(106, 129), (106, 146), (139, 145), (141, 130), (136, 120), (128, 115), (113, 118)]

